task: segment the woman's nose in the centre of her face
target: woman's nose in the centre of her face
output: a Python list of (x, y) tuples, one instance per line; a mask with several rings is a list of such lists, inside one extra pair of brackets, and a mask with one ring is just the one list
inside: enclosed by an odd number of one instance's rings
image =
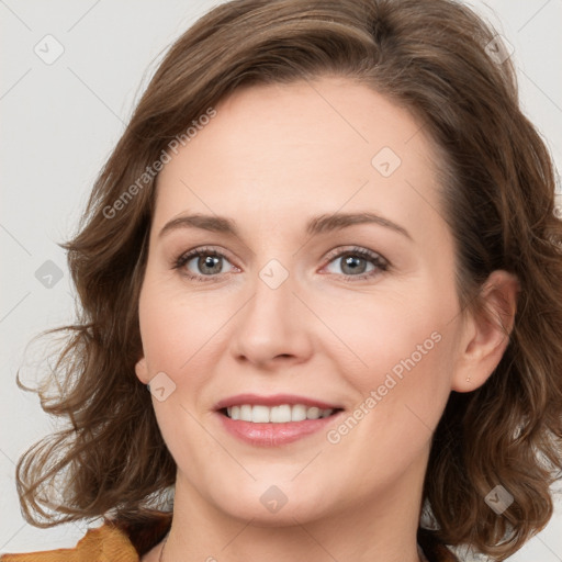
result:
[(268, 272), (265, 268), (262, 277), (256, 276), (254, 295), (236, 315), (231, 345), (237, 361), (272, 370), (311, 357), (313, 321), (295, 294), (299, 288), (293, 277), (289, 274), (276, 286)]

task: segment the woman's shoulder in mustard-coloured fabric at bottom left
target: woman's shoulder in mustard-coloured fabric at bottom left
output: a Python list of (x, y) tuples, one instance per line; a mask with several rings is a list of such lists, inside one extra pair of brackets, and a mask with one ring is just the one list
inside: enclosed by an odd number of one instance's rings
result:
[(139, 557), (126, 532), (106, 521), (90, 529), (74, 549), (20, 554), (1, 554), (0, 562), (138, 562)]

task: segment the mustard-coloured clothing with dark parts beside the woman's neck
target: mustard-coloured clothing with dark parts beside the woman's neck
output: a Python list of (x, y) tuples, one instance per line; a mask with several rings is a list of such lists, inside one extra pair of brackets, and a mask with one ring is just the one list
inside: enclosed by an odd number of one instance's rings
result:
[[(2, 554), (0, 562), (139, 562), (140, 557), (158, 544), (171, 524), (169, 515), (160, 515), (149, 525), (127, 525), (105, 520), (90, 529), (74, 549), (57, 549), (21, 554)], [(439, 543), (430, 531), (418, 529), (420, 555), (427, 562), (459, 562), (459, 559)]]

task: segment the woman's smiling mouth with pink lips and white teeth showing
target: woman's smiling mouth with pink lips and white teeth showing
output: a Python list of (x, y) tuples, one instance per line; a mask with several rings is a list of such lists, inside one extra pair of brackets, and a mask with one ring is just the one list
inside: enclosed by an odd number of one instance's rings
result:
[(223, 428), (239, 440), (256, 447), (280, 447), (322, 435), (344, 408), (286, 394), (244, 394), (220, 402), (215, 411)]

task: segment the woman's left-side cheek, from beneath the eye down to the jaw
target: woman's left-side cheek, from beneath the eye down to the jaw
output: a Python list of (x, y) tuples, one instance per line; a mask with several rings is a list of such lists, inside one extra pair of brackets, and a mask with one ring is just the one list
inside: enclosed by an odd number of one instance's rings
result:
[(164, 400), (153, 397), (164, 440), (179, 465), (204, 474), (206, 461), (201, 464), (200, 460), (215, 458), (217, 451), (196, 420), (194, 400), (207, 380), (204, 362), (209, 361), (220, 318), (209, 315), (209, 310), (205, 315), (205, 307), (196, 301), (171, 294), (166, 283), (147, 276), (139, 299), (139, 322), (149, 379), (161, 376), (159, 373), (169, 378), (159, 379), (166, 389)]

